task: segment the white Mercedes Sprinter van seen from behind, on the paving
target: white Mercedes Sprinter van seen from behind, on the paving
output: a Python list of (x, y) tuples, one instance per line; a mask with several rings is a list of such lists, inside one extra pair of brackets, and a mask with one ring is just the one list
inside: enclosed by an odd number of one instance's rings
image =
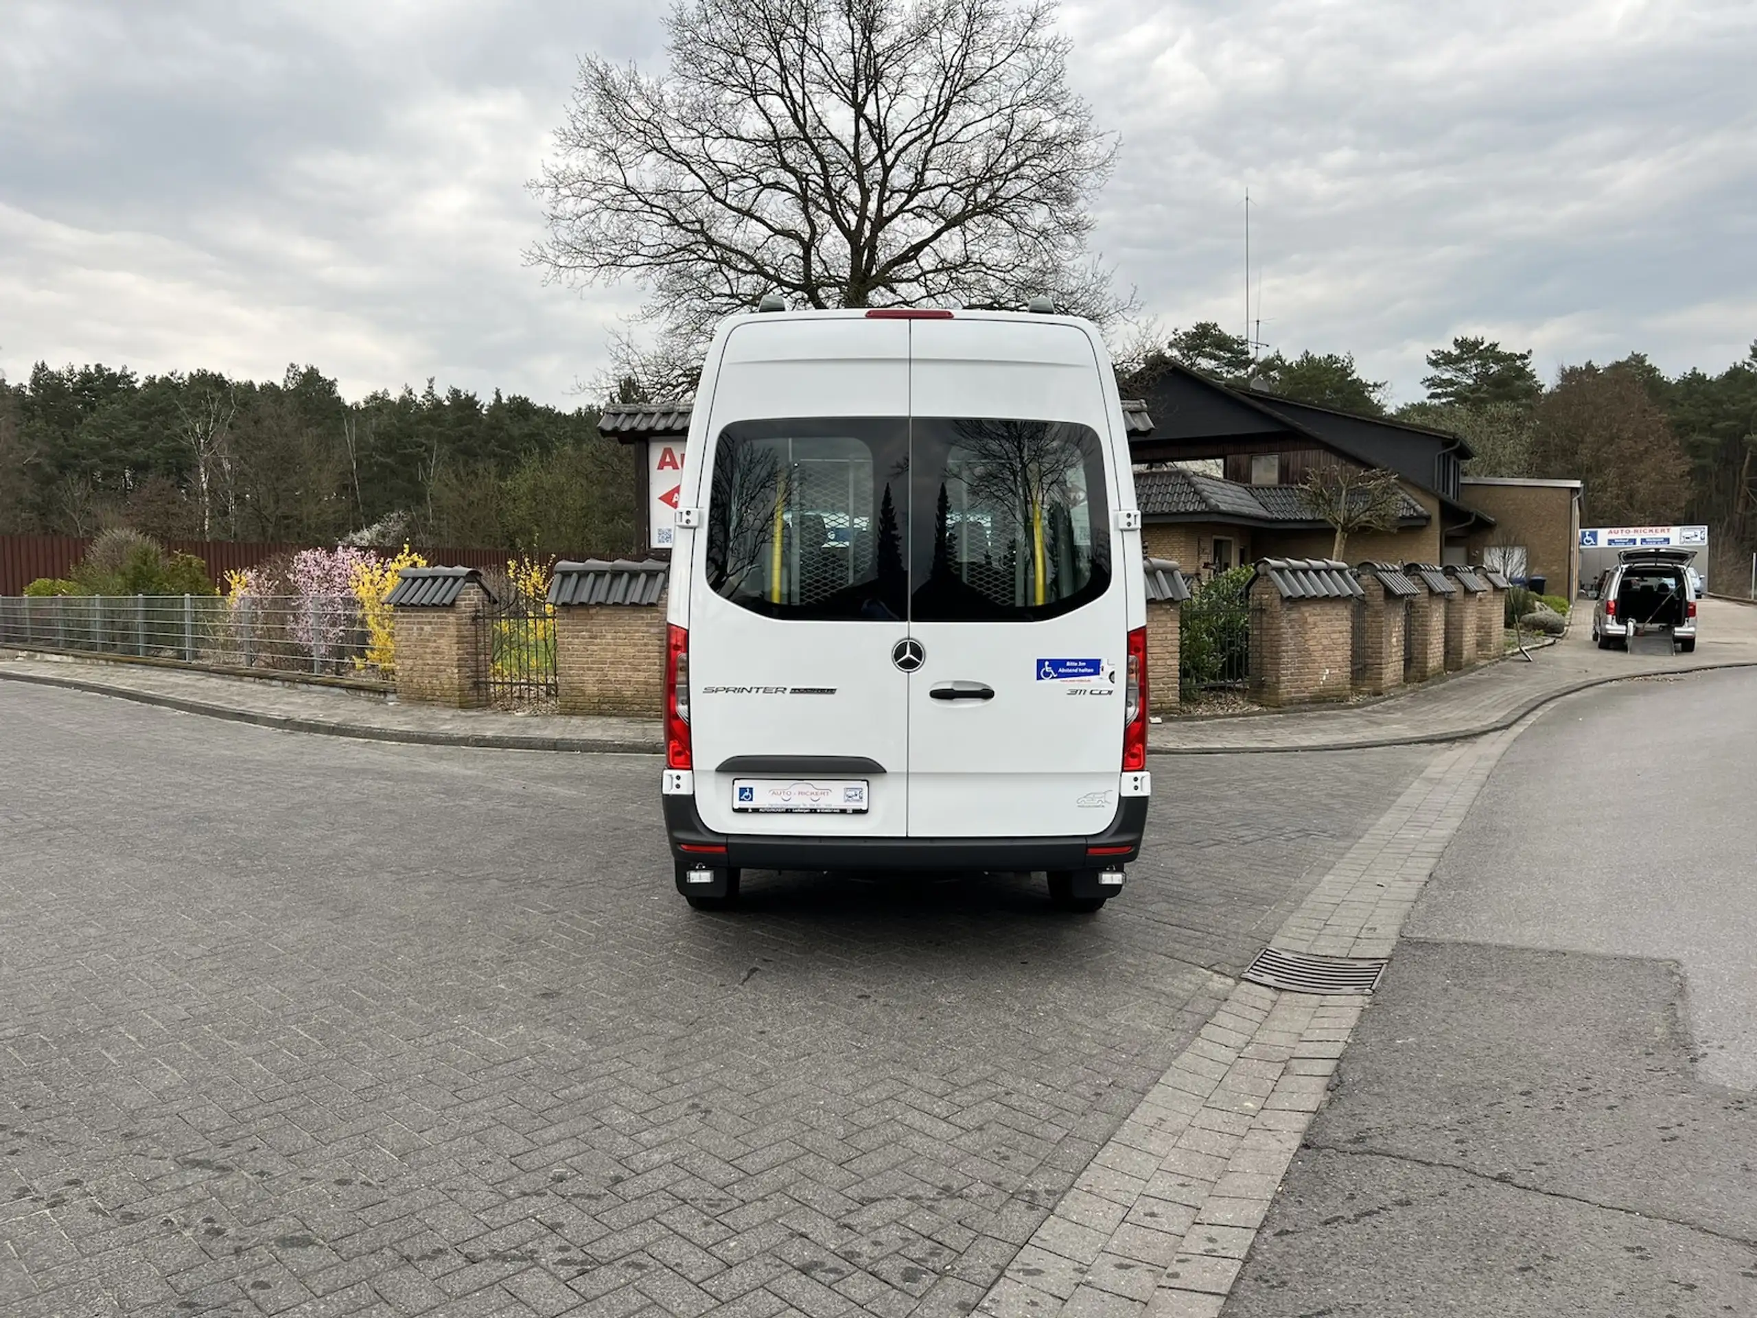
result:
[(773, 311), (713, 337), (671, 550), (664, 815), (692, 907), (763, 870), (1042, 870), (1147, 819), (1140, 513), (1084, 320)]

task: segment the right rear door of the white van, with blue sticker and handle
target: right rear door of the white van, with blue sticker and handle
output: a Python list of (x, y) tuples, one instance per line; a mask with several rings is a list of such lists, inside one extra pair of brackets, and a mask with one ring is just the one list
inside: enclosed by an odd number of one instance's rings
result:
[(1128, 643), (1107, 374), (1075, 325), (912, 327), (908, 831), (1098, 833)]

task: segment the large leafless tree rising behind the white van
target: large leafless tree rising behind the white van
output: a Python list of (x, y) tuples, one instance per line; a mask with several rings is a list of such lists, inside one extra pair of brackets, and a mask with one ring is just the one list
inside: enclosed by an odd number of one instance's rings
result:
[(778, 292), (808, 308), (1016, 306), (1110, 320), (1086, 257), (1114, 142), (1066, 84), (1054, 0), (675, 0), (668, 74), (599, 56), (531, 186), (531, 258), (634, 278), (699, 341)]

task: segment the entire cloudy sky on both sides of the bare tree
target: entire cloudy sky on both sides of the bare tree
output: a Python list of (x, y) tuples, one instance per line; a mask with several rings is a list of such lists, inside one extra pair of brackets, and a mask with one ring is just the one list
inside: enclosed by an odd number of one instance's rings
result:
[[(569, 406), (636, 286), (545, 285), (524, 185), (654, 0), (0, 0), (0, 371), (102, 360)], [(1490, 334), (1722, 369), (1757, 339), (1752, 0), (1063, 0), (1121, 137), (1096, 246), (1165, 327), (1420, 397)], [(1262, 278), (1258, 302), (1256, 278)]]

